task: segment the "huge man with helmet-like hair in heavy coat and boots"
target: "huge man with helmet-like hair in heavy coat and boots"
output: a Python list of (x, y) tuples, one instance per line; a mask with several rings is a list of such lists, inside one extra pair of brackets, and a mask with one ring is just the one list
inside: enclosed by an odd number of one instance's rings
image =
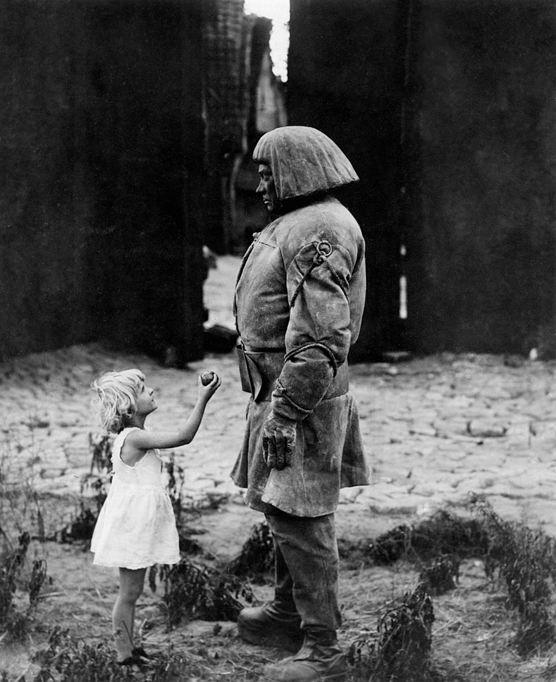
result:
[(294, 656), (265, 679), (343, 679), (336, 631), (340, 488), (367, 484), (347, 356), (365, 302), (365, 242), (333, 191), (358, 180), (322, 132), (285, 126), (253, 152), (271, 222), (254, 240), (236, 282), (234, 312), (247, 428), (232, 478), (262, 511), (276, 552), (275, 598), (245, 608), (248, 642)]

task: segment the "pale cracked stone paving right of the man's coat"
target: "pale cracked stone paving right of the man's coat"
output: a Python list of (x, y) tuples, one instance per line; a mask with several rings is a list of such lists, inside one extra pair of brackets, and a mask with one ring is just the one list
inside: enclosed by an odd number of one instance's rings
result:
[(345, 496), (383, 513), (420, 513), (478, 492), (504, 518), (556, 535), (555, 370), (448, 354), (355, 366), (374, 482)]

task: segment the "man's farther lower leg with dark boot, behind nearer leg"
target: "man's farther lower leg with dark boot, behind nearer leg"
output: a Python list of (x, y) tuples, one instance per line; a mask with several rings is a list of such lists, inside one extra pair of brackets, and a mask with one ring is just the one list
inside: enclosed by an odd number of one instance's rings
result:
[(244, 608), (238, 616), (238, 634), (250, 644), (299, 651), (303, 644), (303, 632), (292, 595), (292, 576), (276, 543), (275, 557), (274, 600), (264, 606)]

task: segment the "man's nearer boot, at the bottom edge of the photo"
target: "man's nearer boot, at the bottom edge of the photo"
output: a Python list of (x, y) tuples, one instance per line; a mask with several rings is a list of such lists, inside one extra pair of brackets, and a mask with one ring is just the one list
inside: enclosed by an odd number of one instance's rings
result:
[(348, 674), (336, 633), (307, 630), (303, 647), (294, 656), (264, 667), (265, 682), (341, 682)]

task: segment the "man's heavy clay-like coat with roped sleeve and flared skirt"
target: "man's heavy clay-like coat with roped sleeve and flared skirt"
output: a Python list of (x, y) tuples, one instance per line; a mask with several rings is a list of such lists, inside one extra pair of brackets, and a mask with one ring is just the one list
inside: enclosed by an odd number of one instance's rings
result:
[[(369, 482), (346, 360), (364, 302), (365, 242), (335, 198), (277, 218), (247, 250), (236, 282), (238, 333), (255, 359), (261, 351), (285, 355), (272, 396), (249, 401), (232, 471), (253, 509), (322, 516), (335, 510), (340, 488)], [(281, 471), (262, 456), (271, 406), (298, 422), (292, 466)]]

